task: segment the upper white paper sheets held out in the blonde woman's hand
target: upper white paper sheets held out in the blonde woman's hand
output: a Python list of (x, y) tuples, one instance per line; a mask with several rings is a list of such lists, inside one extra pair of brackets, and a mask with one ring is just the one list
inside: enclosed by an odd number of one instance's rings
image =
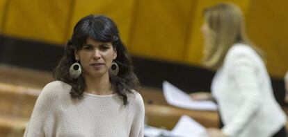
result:
[(192, 100), (192, 98), (187, 93), (181, 91), (176, 86), (170, 84), (167, 81), (163, 82), (163, 93), (168, 104), (175, 107), (209, 111), (215, 111), (217, 109), (217, 106), (214, 102), (207, 100)]

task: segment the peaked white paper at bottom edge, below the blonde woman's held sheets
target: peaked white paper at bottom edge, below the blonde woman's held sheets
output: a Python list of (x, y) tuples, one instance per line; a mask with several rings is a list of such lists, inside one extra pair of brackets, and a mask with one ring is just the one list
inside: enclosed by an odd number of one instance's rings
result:
[(182, 116), (171, 133), (182, 137), (206, 137), (207, 131), (205, 127), (190, 118), (189, 116)]

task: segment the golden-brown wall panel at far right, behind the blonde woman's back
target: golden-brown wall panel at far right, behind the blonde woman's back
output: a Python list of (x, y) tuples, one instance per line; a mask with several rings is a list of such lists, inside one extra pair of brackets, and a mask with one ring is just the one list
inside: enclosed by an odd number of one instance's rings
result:
[(288, 71), (288, 1), (251, 1), (248, 34), (266, 53), (271, 75), (284, 77)]

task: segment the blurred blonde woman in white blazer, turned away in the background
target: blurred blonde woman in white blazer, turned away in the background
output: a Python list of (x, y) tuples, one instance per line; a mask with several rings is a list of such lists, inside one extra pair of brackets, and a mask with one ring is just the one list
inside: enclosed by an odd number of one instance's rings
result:
[(286, 116), (276, 102), (261, 51), (245, 32), (243, 15), (232, 3), (204, 11), (204, 64), (217, 70), (211, 94), (193, 93), (194, 99), (214, 98), (223, 121), (209, 136), (286, 136)]

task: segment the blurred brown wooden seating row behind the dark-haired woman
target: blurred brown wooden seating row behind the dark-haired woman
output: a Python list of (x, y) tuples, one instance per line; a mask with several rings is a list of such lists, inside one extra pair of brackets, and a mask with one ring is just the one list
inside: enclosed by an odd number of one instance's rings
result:
[[(0, 137), (23, 136), (29, 116), (42, 87), (52, 80), (48, 72), (18, 69), (0, 65)], [(142, 87), (145, 122), (153, 127), (173, 129), (182, 115), (205, 127), (218, 127), (216, 111), (179, 109), (167, 104), (161, 89)]]

